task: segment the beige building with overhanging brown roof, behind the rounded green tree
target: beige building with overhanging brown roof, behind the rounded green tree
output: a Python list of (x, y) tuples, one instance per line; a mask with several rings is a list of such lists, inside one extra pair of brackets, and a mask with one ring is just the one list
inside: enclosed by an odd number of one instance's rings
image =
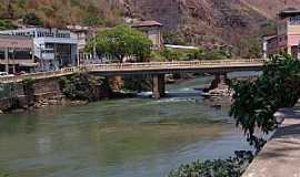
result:
[(140, 21), (140, 22), (134, 22), (131, 27), (142, 31), (152, 41), (153, 49), (160, 49), (163, 46), (162, 34), (161, 34), (161, 28), (162, 28), (161, 23), (153, 20)]

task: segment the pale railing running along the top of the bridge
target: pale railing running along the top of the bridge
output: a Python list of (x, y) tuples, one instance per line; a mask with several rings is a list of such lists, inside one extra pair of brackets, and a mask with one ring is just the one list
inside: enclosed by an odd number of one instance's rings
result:
[(92, 64), (73, 67), (64, 67), (58, 71), (37, 72), (23, 75), (2, 76), (1, 83), (21, 82), (26, 77), (46, 79), (53, 76), (69, 75), (80, 71), (118, 71), (118, 70), (149, 70), (149, 69), (176, 69), (176, 67), (197, 67), (197, 66), (216, 66), (216, 65), (234, 65), (234, 64), (261, 64), (266, 60), (247, 59), (247, 60), (211, 60), (211, 61), (173, 61), (173, 62), (144, 62), (144, 63), (112, 63), (112, 64)]

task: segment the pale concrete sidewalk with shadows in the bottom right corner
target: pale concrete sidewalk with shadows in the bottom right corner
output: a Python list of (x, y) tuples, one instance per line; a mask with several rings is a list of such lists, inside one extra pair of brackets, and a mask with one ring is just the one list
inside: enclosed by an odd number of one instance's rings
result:
[(300, 177), (300, 105), (279, 113), (284, 122), (242, 177)]

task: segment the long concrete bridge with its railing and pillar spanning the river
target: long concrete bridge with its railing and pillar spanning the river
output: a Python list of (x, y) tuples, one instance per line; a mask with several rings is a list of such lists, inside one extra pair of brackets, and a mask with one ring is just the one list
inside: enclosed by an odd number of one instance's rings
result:
[(152, 75), (153, 97), (159, 98), (164, 95), (164, 74), (172, 73), (210, 73), (220, 80), (220, 75), (237, 71), (259, 71), (266, 60), (214, 60), (214, 61), (180, 61), (180, 62), (146, 62), (146, 63), (113, 63), (113, 64), (91, 64), (74, 67), (66, 67), (59, 71), (38, 72), (19, 76), (0, 77), (1, 83), (21, 82), (26, 77), (42, 80), (49, 77), (60, 77), (71, 75), (77, 72), (89, 72), (103, 76), (118, 75)]

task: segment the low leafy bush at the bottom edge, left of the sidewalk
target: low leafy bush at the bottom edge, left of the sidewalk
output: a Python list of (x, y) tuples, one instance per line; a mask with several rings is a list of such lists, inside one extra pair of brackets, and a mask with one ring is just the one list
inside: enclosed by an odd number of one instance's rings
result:
[(193, 162), (181, 165), (168, 177), (240, 177), (253, 159), (251, 152), (236, 152), (236, 157)]

